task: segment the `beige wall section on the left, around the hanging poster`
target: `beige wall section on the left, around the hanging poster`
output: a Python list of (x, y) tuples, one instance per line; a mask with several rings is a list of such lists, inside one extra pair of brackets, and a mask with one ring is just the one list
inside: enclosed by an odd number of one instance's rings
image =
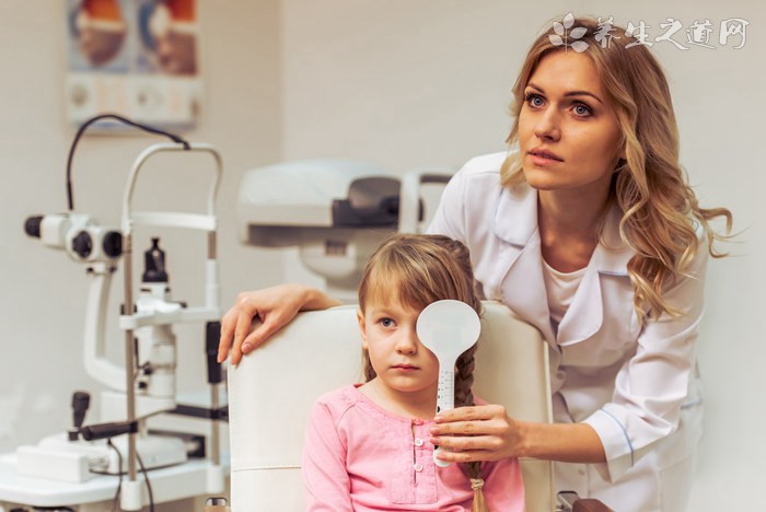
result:
[[(101, 387), (82, 364), (83, 319), (89, 281), (84, 267), (62, 252), (44, 247), (23, 231), (27, 216), (67, 208), (65, 168), (76, 129), (63, 109), (66, 77), (65, 2), (0, 2), (0, 452), (65, 430), (71, 422), (71, 393)], [(219, 191), (219, 258), (223, 304), (243, 288), (282, 280), (279, 255), (243, 247), (236, 240), (236, 189), (242, 173), (279, 161), (281, 92), (277, 0), (198, 2), (204, 102), (198, 128), (183, 133), (209, 142), (224, 161)], [(126, 133), (82, 139), (74, 159), (76, 208), (117, 225), (123, 188), (138, 153), (160, 138)], [(158, 159), (148, 166), (139, 205), (150, 209), (204, 205), (207, 160)], [(186, 167), (188, 165), (188, 168)], [(166, 167), (166, 168), (165, 168)], [(152, 175), (161, 176), (152, 178)], [(144, 200), (146, 199), (146, 200)], [(199, 208), (198, 208), (199, 209)], [(135, 272), (143, 266), (148, 233), (137, 231)], [(176, 233), (163, 238), (174, 298), (201, 304), (204, 236)], [(111, 302), (111, 356), (123, 359), (116, 328), (121, 272)], [(201, 327), (176, 329), (179, 388), (204, 388)], [(94, 398), (91, 402), (96, 403)], [(95, 411), (94, 411), (95, 412)], [(91, 416), (92, 420), (95, 416)]]

